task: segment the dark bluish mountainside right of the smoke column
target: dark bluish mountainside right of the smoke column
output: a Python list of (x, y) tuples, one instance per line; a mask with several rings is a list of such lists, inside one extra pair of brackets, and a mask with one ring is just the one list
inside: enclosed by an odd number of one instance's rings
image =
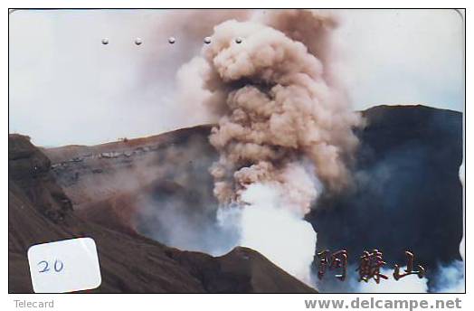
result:
[(404, 250), (428, 271), (460, 259), (462, 115), (423, 106), (364, 111), (367, 126), (354, 168), (354, 188), (325, 195), (308, 215), (318, 250), (384, 252), (405, 265)]

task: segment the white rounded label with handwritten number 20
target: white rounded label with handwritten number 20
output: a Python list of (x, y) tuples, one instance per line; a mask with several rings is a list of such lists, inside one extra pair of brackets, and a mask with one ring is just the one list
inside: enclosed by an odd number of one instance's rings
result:
[(28, 250), (35, 293), (65, 293), (100, 286), (94, 240), (78, 238), (37, 244)]

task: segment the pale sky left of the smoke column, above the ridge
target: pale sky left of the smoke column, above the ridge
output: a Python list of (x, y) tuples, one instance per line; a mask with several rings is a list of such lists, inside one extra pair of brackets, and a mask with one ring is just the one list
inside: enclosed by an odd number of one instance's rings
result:
[[(250, 13), (16, 10), (10, 15), (10, 130), (30, 135), (35, 145), (64, 146), (204, 124), (208, 115), (188, 113), (193, 101), (177, 105), (175, 73), (200, 51), (214, 25)], [(134, 43), (137, 37), (143, 44)], [(75, 108), (81, 113), (64, 113)]]

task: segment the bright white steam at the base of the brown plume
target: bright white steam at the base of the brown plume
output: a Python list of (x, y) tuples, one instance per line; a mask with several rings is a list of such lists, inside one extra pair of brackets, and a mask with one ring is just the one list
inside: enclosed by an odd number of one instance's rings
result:
[(242, 193), (243, 204), (219, 210), (221, 225), (238, 233), (237, 244), (259, 250), (309, 284), (317, 236), (311, 224), (286, 205), (282, 195), (271, 184), (251, 184)]

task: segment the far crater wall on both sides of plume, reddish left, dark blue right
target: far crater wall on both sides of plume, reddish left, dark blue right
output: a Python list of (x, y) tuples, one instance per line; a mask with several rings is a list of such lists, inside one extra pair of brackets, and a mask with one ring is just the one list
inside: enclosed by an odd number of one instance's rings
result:
[[(318, 231), (318, 250), (348, 250), (356, 263), (363, 250), (380, 249), (391, 266), (412, 250), (429, 271), (460, 259), (462, 115), (424, 106), (378, 106), (362, 113), (366, 126), (357, 132), (353, 186), (321, 196), (307, 215)], [(207, 169), (218, 155), (207, 142), (209, 130), (185, 128), (45, 153), (72, 204), (90, 221), (170, 243), (166, 219), (159, 216), (169, 202), (195, 226), (195, 236), (187, 237), (193, 244), (216, 205)]]

